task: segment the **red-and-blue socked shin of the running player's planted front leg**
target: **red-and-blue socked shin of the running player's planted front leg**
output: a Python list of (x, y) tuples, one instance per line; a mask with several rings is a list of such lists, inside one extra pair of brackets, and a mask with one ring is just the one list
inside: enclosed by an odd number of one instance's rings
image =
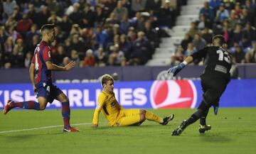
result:
[(69, 101), (62, 102), (61, 114), (63, 116), (64, 128), (70, 128), (70, 104)]

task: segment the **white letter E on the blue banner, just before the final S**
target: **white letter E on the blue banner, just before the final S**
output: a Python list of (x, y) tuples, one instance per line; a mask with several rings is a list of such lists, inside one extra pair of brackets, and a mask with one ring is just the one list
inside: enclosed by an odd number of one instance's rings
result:
[(132, 106), (132, 89), (120, 89), (120, 104)]

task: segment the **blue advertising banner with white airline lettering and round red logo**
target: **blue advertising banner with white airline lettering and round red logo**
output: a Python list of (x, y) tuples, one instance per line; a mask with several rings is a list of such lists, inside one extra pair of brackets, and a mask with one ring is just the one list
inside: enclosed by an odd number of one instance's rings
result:
[[(95, 109), (100, 83), (56, 84), (70, 99), (72, 109)], [(115, 82), (114, 93), (126, 109), (195, 108), (202, 101), (200, 80)], [(7, 100), (35, 100), (31, 84), (0, 84), (0, 109)], [(232, 80), (220, 98), (220, 107), (256, 106), (256, 79)], [(59, 109), (59, 101), (48, 109)]]

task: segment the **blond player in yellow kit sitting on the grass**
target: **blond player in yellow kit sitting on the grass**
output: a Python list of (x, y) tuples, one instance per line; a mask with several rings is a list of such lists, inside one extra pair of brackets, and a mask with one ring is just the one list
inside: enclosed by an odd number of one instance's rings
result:
[(93, 115), (92, 128), (99, 126), (100, 111), (102, 111), (102, 114), (105, 116), (110, 126), (139, 126), (146, 119), (155, 121), (161, 125), (166, 125), (169, 121), (174, 119), (174, 114), (160, 118), (144, 109), (124, 109), (114, 97), (113, 77), (111, 75), (103, 75), (100, 80), (103, 89), (97, 99), (97, 108)]

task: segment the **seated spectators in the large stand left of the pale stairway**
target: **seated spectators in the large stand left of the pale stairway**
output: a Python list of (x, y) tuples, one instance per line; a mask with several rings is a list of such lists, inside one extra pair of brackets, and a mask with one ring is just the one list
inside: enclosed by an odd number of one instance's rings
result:
[(43, 24), (52, 60), (78, 67), (144, 65), (186, 0), (0, 0), (0, 67), (29, 67)]

